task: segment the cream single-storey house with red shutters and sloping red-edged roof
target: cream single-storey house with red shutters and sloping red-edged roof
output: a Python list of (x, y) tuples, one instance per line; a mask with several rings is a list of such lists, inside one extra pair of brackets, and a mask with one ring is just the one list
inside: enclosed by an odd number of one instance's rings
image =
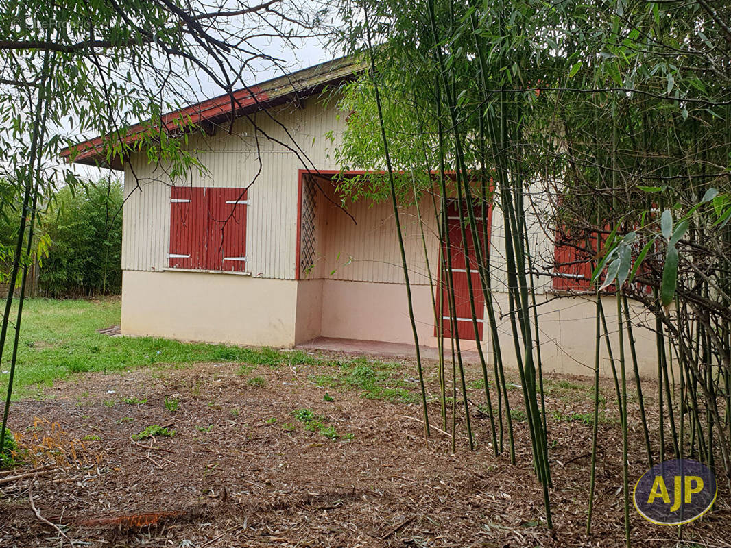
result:
[[(205, 175), (193, 170), (173, 184), (145, 151), (113, 159), (111, 167), (124, 170), (126, 197), (123, 334), (287, 348), (313, 340), (413, 348), (390, 202), (343, 205), (333, 184), (340, 172), (334, 149), (347, 113), (323, 91), (360, 69), (348, 59), (331, 61), (242, 90), (234, 106), (221, 96), (170, 113), (170, 123), (186, 117), (204, 127), (186, 146), (208, 168)], [(80, 143), (74, 161), (103, 163), (101, 143)], [(415, 206), (401, 211), (401, 221), (420, 344), (433, 348), (436, 324), (448, 330), (450, 317), (434, 313), (440, 243), (431, 200), (420, 210), (422, 223)], [(550, 263), (567, 251), (554, 249), (538, 221), (529, 230), (531, 249), (535, 262)], [(512, 350), (498, 208), (486, 225), (499, 332)], [(594, 297), (580, 292), (585, 271), (578, 265), (574, 274), (564, 269), (560, 278), (537, 279), (542, 359), (551, 370), (590, 374), (594, 368)], [(458, 336), (463, 349), (474, 350), (464, 265), (452, 265), (452, 274), (465, 297), (458, 303)], [(554, 298), (572, 283), (577, 296)], [(474, 303), (488, 350), (481, 292)], [(640, 366), (652, 374), (654, 338), (640, 330), (635, 336)], [(610, 374), (606, 359), (602, 373)]]

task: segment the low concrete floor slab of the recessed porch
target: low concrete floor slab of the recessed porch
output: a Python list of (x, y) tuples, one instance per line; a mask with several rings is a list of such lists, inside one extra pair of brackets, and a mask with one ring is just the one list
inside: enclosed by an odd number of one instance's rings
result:
[[(416, 347), (413, 344), (387, 343), (383, 340), (317, 337), (305, 343), (300, 343), (295, 348), (300, 350), (327, 350), (341, 352), (342, 354), (385, 358), (414, 359), (416, 357)], [(439, 360), (439, 351), (436, 348), (420, 346), (419, 349), (422, 359), (431, 359), (435, 362)], [(477, 354), (477, 351), (462, 351), (462, 361), (465, 363), (480, 363), (480, 356)]]

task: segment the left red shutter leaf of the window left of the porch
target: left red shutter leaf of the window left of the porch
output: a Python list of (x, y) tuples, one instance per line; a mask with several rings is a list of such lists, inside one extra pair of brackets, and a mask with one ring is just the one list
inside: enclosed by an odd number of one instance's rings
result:
[(205, 189), (170, 189), (170, 268), (203, 268), (201, 235), (205, 234)]

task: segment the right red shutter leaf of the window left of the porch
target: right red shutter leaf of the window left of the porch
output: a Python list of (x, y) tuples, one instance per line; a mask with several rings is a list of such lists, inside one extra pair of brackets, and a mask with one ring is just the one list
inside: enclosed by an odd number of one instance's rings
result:
[(246, 271), (246, 190), (208, 189), (207, 270)]

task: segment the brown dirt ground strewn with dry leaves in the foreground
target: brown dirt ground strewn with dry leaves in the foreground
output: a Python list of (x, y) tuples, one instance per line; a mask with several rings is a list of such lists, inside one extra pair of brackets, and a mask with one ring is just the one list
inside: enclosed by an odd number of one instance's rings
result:
[[(0, 473), (0, 547), (61, 545), (58, 532), (34, 515), (29, 491), (39, 515), (62, 524), (75, 546), (624, 544), (615, 422), (600, 425), (594, 522), (587, 536), (591, 426), (550, 414), (549, 530), (526, 422), (515, 422), (516, 465), (507, 451), (493, 455), (488, 421), (477, 411), (477, 449), (466, 446), (461, 417), (452, 454), (450, 436), (437, 430), (425, 445), (418, 404), (368, 400), (347, 389), (327, 389), (325, 397), (326, 389), (312, 381), (323, 367), (331, 366), (259, 366), (242, 375), (240, 364), (208, 363), (94, 373), (47, 389), (46, 398), (14, 403), (10, 425), (26, 443), (46, 438), (59, 461), (75, 453), (79, 463), (22, 477), (48, 463), (41, 456)], [(414, 375), (412, 364), (403, 367), (406, 376)], [(586, 378), (552, 378), (591, 384)], [(611, 385), (604, 389), (610, 396)], [(476, 403), (484, 397), (480, 389), (471, 393)], [(547, 407), (564, 415), (591, 411), (591, 398), (581, 393), (548, 393)], [(166, 397), (178, 400), (177, 411), (164, 406)], [(510, 397), (515, 408), (522, 407), (520, 390)], [(130, 398), (146, 402), (125, 403), (134, 401)], [(316, 422), (300, 420), (303, 414), (296, 411), (303, 409)], [(438, 404), (430, 403), (430, 411), (441, 427)], [(131, 440), (150, 425), (166, 426), (175, 435)], [(647, 468), (641, 436), (640, 430), (631, 435), (633, 483)], [(7, 481), (12, 476), (18, 479)], [(632, 511), (633, 545), (731, 546), (725, 485), (719, 482), (716, 509), (684, 528), (684, 541), (678, 541), (677, 528), (651, 525)]]

